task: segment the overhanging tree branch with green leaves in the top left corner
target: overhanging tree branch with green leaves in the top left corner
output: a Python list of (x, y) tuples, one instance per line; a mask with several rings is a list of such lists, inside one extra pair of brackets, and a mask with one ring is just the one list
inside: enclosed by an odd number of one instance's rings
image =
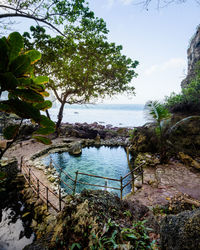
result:
[[(94, 18), (94, 13), (85, 0), (1, 0), (1, 29), (5, 20), (19, 17), (34, 20), (64, 35), (63, 27)], [(7, 21), (6, 27), (8, 25)]]

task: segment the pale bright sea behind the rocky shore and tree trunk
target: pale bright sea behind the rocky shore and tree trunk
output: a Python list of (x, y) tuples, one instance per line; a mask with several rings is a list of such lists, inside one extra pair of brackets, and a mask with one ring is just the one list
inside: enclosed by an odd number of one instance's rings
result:
[[(49, 110), (51, 119), (57, 120), (59, 105)], [(137, 127), (147, 121), (142, 104), (87, 104), (65, 105), (62, 122), (94, 123), (115, 127)]]

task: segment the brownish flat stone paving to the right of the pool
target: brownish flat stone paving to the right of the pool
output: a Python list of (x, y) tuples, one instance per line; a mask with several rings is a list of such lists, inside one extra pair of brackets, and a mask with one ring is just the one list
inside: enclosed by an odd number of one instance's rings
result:
[(200, 200), (200, 172), (180, 162), (171, 162), (146, 168), (142, 188), (126, 199), (139, 200), (146, 206), (164, 205), (179, 192)]

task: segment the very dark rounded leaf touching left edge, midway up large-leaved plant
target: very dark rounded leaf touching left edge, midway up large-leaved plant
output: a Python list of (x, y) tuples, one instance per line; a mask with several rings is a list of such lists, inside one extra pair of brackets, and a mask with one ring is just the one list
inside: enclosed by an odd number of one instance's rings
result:
[(17, 87), (18, 81), (11, 72), (0, 74), (1, 91), (13, 90)]

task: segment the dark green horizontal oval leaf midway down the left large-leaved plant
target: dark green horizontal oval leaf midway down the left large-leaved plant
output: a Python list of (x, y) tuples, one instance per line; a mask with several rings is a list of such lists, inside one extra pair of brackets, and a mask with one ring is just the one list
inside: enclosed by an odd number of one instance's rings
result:
[(43, 102), (44, 98), (42, 95), (38, 94), (32, 89), (16, 89), (11, 92), (12, 95), (15, 95), (21, 98), (23, 101), (35, 103), (35, 102)]

